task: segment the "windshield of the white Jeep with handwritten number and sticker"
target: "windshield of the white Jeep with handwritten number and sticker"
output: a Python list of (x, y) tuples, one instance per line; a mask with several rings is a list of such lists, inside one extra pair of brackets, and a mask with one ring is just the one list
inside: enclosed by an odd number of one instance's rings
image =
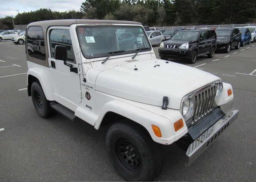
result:
[(141, 26), (78, 26), (77, 34), (86, 58), (106, 57), (112, 52), (116, 52), (114, 55), (131, 54), (140, 48), (151, 50)]

